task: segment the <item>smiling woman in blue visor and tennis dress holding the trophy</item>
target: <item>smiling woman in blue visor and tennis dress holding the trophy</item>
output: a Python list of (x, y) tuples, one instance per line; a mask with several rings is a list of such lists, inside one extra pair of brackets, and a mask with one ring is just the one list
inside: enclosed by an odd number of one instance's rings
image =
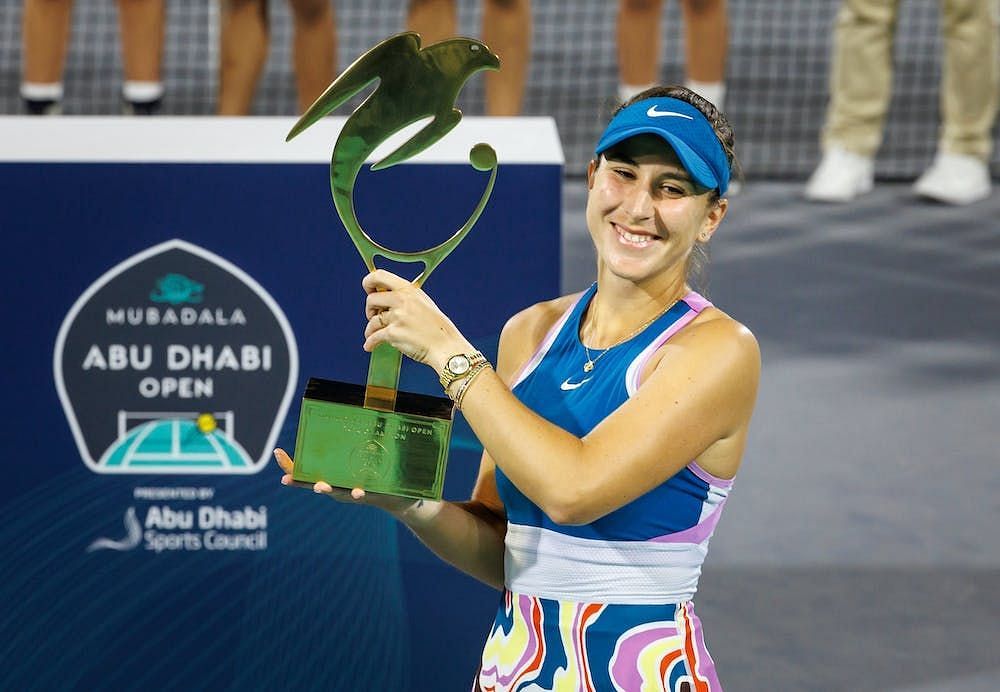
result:
[(687, 279), (726, 215), (732, 145), (682, 87), (619, 109), (587, 171), (597, 283), (514, 316), (496, 372), (423, 291), (381, 270), (363, 281), (365, 349), (441, 373), (486, 451), (465, 503), (315, 490), (390, 511), (503, 589), (475, 689), (720, 689), (691, 598), (760, 354)]

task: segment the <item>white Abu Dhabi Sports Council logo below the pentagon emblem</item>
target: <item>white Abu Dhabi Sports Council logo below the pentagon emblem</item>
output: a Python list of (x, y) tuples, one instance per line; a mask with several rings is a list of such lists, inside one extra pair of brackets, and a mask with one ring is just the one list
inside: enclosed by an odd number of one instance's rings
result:
[(173, 551), (260, 551), (267, 549), (267, 507), (227, 509), (220, 505), (194, 508), (154, 504), (139, 519), (135, 507), (124, 516), (120, 539), (98, 538), (87, 552), (119, 552), (141, 547), (154, 553)]

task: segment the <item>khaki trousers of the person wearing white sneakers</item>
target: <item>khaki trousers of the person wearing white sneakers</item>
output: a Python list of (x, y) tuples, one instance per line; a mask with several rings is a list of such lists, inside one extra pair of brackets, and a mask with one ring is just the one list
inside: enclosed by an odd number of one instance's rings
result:
[[(989, 161), (1000, 90), (1000, 0), (940, 0), (944, 37), (938, 149)], [(823, 146), (874, 156), (892, 91), (899, 0), (844, 0), (837, 15)]]

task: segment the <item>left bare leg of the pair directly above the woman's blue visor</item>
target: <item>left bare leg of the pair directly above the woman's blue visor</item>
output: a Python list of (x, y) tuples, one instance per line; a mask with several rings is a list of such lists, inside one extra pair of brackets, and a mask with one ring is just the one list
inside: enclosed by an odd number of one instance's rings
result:
[(663, 0), (621, 0), (618, 4), (618, 96), (622, 101), (659, 79), (662, 9)]

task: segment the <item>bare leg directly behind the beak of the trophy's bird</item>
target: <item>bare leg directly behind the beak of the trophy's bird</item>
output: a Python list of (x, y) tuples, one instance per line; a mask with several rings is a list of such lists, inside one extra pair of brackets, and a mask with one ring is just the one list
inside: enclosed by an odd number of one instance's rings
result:
[(531, 0), (485, 0), (483, 42), (501, 60), (499, 72), (486, 74), (486, 112), (518, 115), (531, 53)]

